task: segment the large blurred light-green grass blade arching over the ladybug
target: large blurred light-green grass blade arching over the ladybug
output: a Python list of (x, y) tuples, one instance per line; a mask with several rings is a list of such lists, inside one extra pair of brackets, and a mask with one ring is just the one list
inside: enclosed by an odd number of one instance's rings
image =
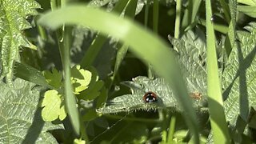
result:
[(44, 14), (39, 19), (39, 23), (55, 30), (63, 23), (90, 26), (92, 29), (101, 31), (102, 34), (110, 34), (130, 45), (130, 50), (144, 62), (150, 62), (154, 70), (173, 88), (174, 95), (183, 108), (182, 114), (186, 123), (194, 134), (195, 143), (199, 142), (195, 111), (178, 62), (166, 42), (128, 19), (81, 5), (66, 6), (61, 10)]

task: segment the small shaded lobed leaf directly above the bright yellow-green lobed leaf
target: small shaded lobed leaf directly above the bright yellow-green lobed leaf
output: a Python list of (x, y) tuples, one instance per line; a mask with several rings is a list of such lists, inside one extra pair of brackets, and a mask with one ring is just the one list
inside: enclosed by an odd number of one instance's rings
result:
[(50, 84), (50, 86), (54, 86), (55, 89), (58, 89), (62, 86), (62, 72), (56, 70), (55, 68), (50, 72), (49, 70), (42, 72), (43, 76), (46, 78), (46, 82)]

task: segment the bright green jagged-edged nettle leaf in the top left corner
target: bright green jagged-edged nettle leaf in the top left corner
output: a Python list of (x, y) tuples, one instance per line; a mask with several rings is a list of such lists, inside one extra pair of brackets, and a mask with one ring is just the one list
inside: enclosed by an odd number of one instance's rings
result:
[(0, 3), (1, 78), (6, 77), (7, 82), (11, 84), (14, 61), (18, 60), (20, 48), (36, 49), (22, 32), (31, 27), (26, 18), (36, 15), (35, 9), (40, 6), (34, 0), (1, 0)]

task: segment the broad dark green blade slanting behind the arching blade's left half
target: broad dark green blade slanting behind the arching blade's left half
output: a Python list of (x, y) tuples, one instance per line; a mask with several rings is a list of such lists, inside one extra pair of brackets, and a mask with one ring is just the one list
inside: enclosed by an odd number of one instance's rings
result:
[[(114, 6), (113, 11), (117, 14), (121, 14), (122, 10), (126, 7), (129, 0), (118, 1), (118, 3)], [(98, 55), (98, 52), (102, 49), (103, 44), (106, 42), (107, 38), (105, 35), (98, 34), (98, 36), (94, 39), (94, 42), (90, 45), (86, 54), (82, 58), (80, 65), (82, 67), (89, 67), (94, 62), (95, 58)]]

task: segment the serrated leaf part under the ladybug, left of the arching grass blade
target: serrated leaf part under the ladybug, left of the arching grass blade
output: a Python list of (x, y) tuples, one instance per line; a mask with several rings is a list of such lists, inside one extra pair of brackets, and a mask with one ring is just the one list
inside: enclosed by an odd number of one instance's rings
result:
[[(131, 88), (132, 94), (125, 94), (112, 99), (107, 103), (106, 107), (98, 109), (99, 113), (118, 113), (131, 112), (133, 110), (152, 110), (158, 107), (166, 108), (173, 107), (174, 110), (180, 109), (174, 98), (173, 92), (166, 86), (166, 82), (162, 78), (154, 80), (146, 77), (133, 78), (133, 82), (127, 81), (122, 84)], [(158, 96), (158, 102), (145, 103), (143, 95), (146, 92), (152, 91)]]

